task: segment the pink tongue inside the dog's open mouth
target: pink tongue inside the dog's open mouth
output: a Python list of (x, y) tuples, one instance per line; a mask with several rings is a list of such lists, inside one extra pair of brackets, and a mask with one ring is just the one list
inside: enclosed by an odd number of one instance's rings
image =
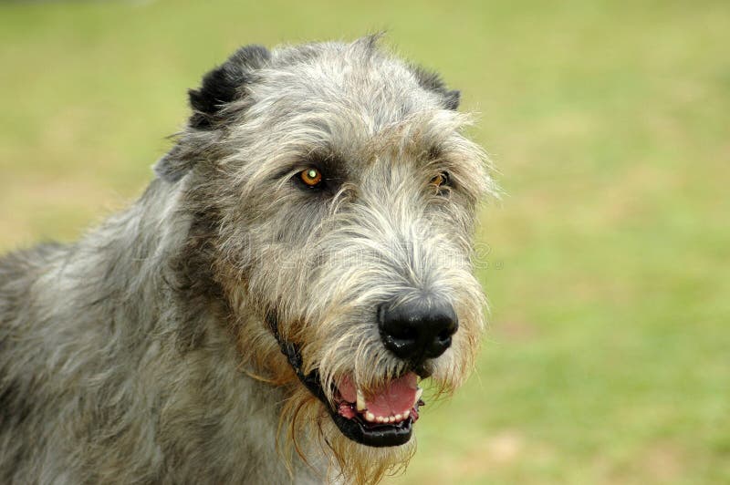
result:
[[(356, 402), (357, 389), (349, 377), (342, 379), (338, 386), (339, 394), (349, 402)], [(394, 416), (403, 414), (413, 407), (418, 388), (418, 376), (409, 372), (378, 389), (373, 395), (365, 397), (365, 405), (375, 416)]]

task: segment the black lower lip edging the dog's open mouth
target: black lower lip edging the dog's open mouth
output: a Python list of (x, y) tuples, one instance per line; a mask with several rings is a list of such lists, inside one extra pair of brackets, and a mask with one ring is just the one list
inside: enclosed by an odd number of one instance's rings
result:
[[(322, 388), (321, 380), (319, 379), (319, 371), (314, 369), (309, 374), (305, 375), (302, 371), (302, 356), (299, 351), (299, 347), (296, 344), (292, 344), (283, 340), (278, 333), (278, 325), (276, 325), (276, 316), (269, 314), (267, 315), (267, 321), (271, 327), (271, 331), (281, 348), (282, 354), (287, 356), (289, 365), (294, 369), (295, 374), (308, 388), (309, 392), (313, 396), (317, 397), (327, 408), (329, 416), (335, 422), (339, 430), (347, 438), (360, 443), (361, 445), (384, 448), (400, 446), (407, 443), (413, 434), (413, 418), (409, 416), (403, 419), (399, 423), (393, 424), (380, 424), (370, 423), (363, 420), (360, 415), (354, 418), (345, 418), (340, 415), (337, 409), (332, 408), (329, 404), (327, 396), (325, 395), (324, 388)], [(416, 405), (418, 406), (418, 405)]]

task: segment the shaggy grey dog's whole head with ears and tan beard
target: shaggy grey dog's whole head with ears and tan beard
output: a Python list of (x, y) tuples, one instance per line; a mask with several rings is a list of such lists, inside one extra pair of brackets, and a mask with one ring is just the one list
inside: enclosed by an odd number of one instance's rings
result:
[(380, 476), (412, 453), (418, 379), (458, 387), (484, 327), (470, 252), (491, 181), (458, 92), (367, 37), (245, 47), (191, 101), (157, 170), (218, 201), (206, 251), (242, 357), (289, 389), (293, 439)]

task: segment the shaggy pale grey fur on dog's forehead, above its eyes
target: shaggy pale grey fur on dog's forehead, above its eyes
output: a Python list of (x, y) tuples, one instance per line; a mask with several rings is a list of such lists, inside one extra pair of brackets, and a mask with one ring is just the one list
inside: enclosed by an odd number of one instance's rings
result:
[(257, 144), (281, 153), (363, 160), (382, 150), (441, 150), (461, 139), (469, 118), (454, 110), (458, 94), (450, 93), (457, 92), (447, 91), (437, 75), (365, 37), (275, 50), (225, 112), (236, 119), (230, 133), (244, 145), (255, 131)]

